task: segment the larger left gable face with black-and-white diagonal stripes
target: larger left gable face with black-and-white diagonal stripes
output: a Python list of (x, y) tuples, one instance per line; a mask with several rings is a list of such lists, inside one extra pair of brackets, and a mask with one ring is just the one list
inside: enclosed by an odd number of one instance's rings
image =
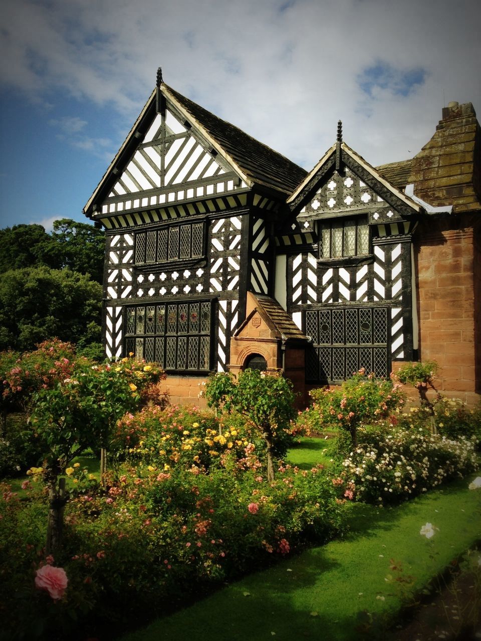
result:
[(128, 159), (121, 166), (121, 149), (94, 196), (106, 185), (108, 192), (100, 203), (92, 196), (84, 210), (106, 228), (246, 206), (248, 185), (239, 172), (169, 101), (162, 113), (148, 109), (124, 146), (131, 149)]

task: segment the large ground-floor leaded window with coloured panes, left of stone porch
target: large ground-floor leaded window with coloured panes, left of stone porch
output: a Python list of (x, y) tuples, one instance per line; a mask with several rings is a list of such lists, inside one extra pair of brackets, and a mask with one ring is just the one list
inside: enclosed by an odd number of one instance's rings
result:
[(166, 370), (211, 367), (212, 301), (135, 305), (126, 308), (126, 353)]

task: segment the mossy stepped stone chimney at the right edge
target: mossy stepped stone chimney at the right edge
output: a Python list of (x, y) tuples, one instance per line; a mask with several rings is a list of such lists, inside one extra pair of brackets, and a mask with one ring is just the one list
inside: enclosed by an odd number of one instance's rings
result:
[(481, 208), (481, 129), (471, 103), (443, 108), (431, 140), (414, 156), (410, 182), (414, 195), (453, 212)]

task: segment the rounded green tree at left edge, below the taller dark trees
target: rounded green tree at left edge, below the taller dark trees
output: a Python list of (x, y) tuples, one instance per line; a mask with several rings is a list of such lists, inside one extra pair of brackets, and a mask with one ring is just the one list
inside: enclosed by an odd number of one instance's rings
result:
[(0, 350), (30, 351), (47, 338), (100, 340), (102, 288), (69, 269), (28, 267), (0, 279)]

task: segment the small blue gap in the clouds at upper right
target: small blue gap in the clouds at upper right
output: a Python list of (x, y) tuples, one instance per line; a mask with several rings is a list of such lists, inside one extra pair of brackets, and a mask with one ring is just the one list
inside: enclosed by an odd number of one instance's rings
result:
[(409, 96), (423, 85), (427, 72), (422, 67), (396, 69), (388, 62), (376, 62), (357, 76), (359, 87), (367, 96), (373, 97), (375, 88), (388, 89), (394, 96)]

